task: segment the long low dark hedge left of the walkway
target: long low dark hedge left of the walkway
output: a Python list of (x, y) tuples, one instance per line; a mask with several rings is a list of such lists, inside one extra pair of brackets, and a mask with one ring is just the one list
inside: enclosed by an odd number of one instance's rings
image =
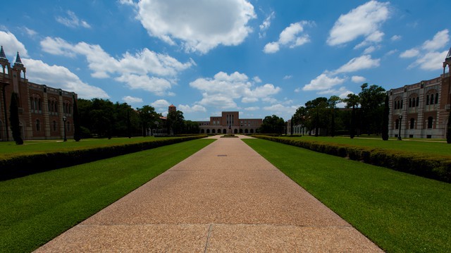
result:
[(0, 160), (0, 180), (18, 178), (33, 173), (50, 171), (56, 168), (74, 166), (100, 159), (121, 156), (133, 152), (140, 152), (169, 144), (186, 142), (206, 137), (195, 135), (190, 137), (175, 137), (165, 140), (152, 140), (149, 142), (137, 142), (130, 144), (118, 144), (106, 147), (78, 149), (68, 152), (50, 152), (45, 154), (25, 154)]

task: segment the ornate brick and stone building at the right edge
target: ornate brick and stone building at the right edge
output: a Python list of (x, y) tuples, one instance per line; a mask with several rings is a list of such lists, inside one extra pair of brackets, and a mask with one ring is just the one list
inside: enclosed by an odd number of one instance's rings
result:
[(443, 74), (438, 78), (389, 91), (390, 137), (446, 137), (451, 109), (450, 66), (451, 48), (443, 62)]

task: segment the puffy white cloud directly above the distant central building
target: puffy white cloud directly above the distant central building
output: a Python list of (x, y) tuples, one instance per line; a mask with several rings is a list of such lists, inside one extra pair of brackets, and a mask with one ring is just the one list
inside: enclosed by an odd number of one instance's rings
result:
[(190, 86), (202, 92), (203, 98), (198, 104), (221, 109), (236, 108), (234, 99), (251, 103), (268, 99), (280, 92), (280, 87), (272, 84), (257, 86), (255, 83), (245, 74), (235, 72), (228, 75), (221, 71), (214, 78), (198, 78), (190, 82)]

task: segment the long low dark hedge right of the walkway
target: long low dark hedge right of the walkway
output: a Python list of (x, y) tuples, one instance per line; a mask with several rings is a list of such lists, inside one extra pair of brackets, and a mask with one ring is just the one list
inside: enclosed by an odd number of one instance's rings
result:
[(341, 156), (356, 161), (363, 161), (376, 166), (391, 168), (396, 171), (420, 175), (425, 178), (451, 183), (451, 159), (443, 156), (395, 152), (386, 149), (318, 142), (310, 140), (289, 140), (280, 137), (253, 135), (259, 139), (271, 140), (315, 152)]

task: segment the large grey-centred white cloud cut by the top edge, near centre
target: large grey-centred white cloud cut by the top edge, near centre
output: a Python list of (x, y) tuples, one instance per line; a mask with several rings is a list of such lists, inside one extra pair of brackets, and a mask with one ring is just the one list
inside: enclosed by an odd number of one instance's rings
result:
[(171, 45), (180, 40), (185, 51), (202, 54), (241, 44), (252, 32), (248, 21), (257, 17), (246, 0), (142, 0), (138, 13), (149, 35)]

